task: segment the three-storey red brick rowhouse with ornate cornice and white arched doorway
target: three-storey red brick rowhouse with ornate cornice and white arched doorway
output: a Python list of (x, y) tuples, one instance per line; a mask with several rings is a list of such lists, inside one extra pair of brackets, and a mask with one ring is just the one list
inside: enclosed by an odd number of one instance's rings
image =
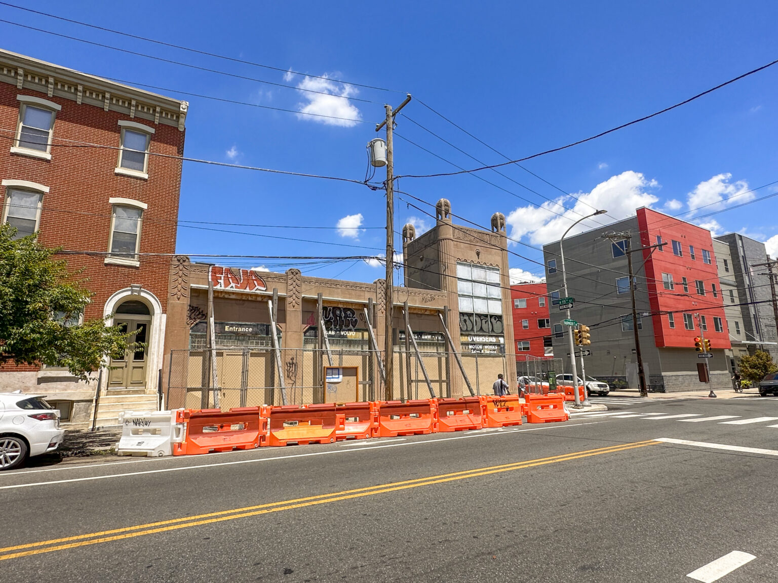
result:
[[(95, 293), (84, 318), (115, 313), (148, 343), (103, 371), (99, 424), (156, 400), (186, 113), (184, 101), (0, 51), (2, 222), (75, 252), (68, 267)], [(13, 389), (47, 394), (72, 422), (92, 417), (95, 383), (65, 370), (6, 366), (0, 390)]]

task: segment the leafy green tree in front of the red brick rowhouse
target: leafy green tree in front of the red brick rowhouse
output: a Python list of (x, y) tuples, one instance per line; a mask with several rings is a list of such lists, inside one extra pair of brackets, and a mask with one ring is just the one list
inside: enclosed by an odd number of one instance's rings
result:
[(106, 354), (132, 347), (104, 319), (79, 323), (94, 294), (65, 260), (54, 258), (58, 249), (41, 245), (36, 235), (15, 237), (16, 229), (0, 225), (0, 364), (61, 366), (87, 379)]

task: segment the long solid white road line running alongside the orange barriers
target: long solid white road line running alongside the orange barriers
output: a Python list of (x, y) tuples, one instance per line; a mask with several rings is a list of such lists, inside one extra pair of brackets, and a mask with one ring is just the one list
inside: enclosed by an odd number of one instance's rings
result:
[[(162, 468), (161, 470), (144, 470), (142, 472), (127, 472), (127, 473), (110, 473), (104, 476), (89, 476), (89, 477), (82, 477), (82, 478), (71, 478), (69, 480), (51, 480), (47, 482), (32, 482), (30, 484), (12, 484), (10, 486), (0, 486), (0, 490), (12, 490), (15, 488), (26, 488), (30, 486), (45, 486), (47, 484), (68, 484), (70, 482), (86, 482), (90, 480), (107, 480), (108, 478), (119, 478), (119, 477), (125, 477), (125, 476), (142, 476), (144, 474), (149, 473), (163, 473), (163, 472), (177, 472), (180, 470), (198, 470), (201, 468), (212, 468), (212, 467), (218, 467), (218, 466), (237, 466), (239, 464), (244, 463), (259, 463), (259, 462), (270, 462), (274, 459), (293, 459), (293, 458), (305, 458), (305, 457), (311, 457), (311, 456), (328, 456), (335, 453), (350, 453), (350, 452), (363, 452), (366, 449), (382, 449), (382, 448), (394, 448), (394, 447), (407, 447), (408, 445), (422, 445), (422, 444), (428, 444), (428, 443), (438, 443), (438, 442), (452, 442), (457, 439), (472, 439), (472, 438), (478, 438), (478, 437), (487, 437), (489, 435), (506, 435), (507, 433), (524, 433), (526, 431), (542, 431), (544, 429), (562, 429), (562, 428), (569, 428), (569, 427), (580, 427), (581, 425), (596, 425), (599, 423), (606, 423), (608, 420), (604, 419), (602, 421), (594, 421), (594, 423), (573, 423), (573, 424), (565, 424), (565, 425), (545, 425), (543, 427), (536, 427), (536, 428), (528, 428), (528, 429), (507, 429), (506, 431), (500, 431), (500, 432), (489, 432), (489, 433), (478, 433), (476, 434), (475, 431), (468, 431), (469, 435), (457, 435), (456, 437), (450, 437), (450, 438), (436, 438), (436, 439), (424, 439), (419, 442), (406, 442), (406, 443), (391, 443), (389, 445), (372, 445), (367, 447), (361, 447), (361, 448), (353, 448), (353, 449), (330, 449), (326, 452), (310, 452), (310, 453), (298, 453), (298, 454), (290, 454), (289, 456), (271, 456), (266, 458), (252, 458), (252, 459), (238, 459), (233, 462), (221, 462), (221, 463), (203, 463), (199, 466), (178, 466), (173, 468)], [(360, 444), (361, 445), (361, 444)], [(304, 447), (304, 446), (303, 446)], [(209, 454), (211, 455), (211, 454)], [(171, 458), (163, 458), (163, 459), (186, 459), (189, 456), (179, 456), (179, 457), (171, 457)], [(104, 466), (98, 466), (98, 467), (104, 467)], [(14, 474), (12, 474), (13, 476)], [(23, 474), (19, 473), (16, 474), (16, 476), (21, 476)]]

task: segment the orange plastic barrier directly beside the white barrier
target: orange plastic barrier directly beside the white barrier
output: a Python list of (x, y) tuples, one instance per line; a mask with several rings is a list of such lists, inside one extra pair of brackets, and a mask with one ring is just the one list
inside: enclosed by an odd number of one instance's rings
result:
[(173, 456), (254, 449), (267, 438), (268, 420), (260, 407), (187, 409), (177, 417), (186, 424), (186, 438), (173, 443)]

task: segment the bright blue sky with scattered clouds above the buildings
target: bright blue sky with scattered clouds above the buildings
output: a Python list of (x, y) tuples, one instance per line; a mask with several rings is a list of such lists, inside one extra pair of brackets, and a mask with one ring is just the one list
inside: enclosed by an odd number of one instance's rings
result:
[[(253, 5), (193, 1), (185, 5), (135, 2), (130, 10), (124, 4), (105, 2), (15, 3), (283, 70), (412, 93), (511, 158), (596, 134), (778, 58), (775, 2)], [(193, 158), (362, 180), (365, 145), (376, 136), (374, 123), (384, 117), (383, 104), (396, 106), (403, 99), (403, 93), (241, 65), (7, 6), (0, 7), (0, 12), (5, 20), (131, 51), (374, 102), (198, 71), (0, 23), (3, 47), (95, 75), (366, 122), (328, 120), (157, 90), (190, 102), (185, 154)], [(394, 17), (388, 30), (387, 12)], [(553, 186), (516, 166), (500, 169), (510, 178), (489, 170), (478, 173), (496, 186), (471, 174), (404, 178), (398, 186), (433, 203), (447, 197), (455, 214), (482, 225), (489, 225), (493, 212), (502, 211), (508, 217), (509, 234), (535, 247), (558, 239), (570, 218), (579, 218), (576, 213), (594, 206), (609, 214), (598, 218), (607, 220), (589, 223), (587, 228), (624, 218), (645, 204), (671, 215), (706, 204), (683, 218), (719, 233), (738, 231), (769, 241), (775, 254), (778, 198), (710, 217), (702, 215), (778, 191), (778, 185), (773, 185), (743, 194), (778, 180), (776, 95), (778, 65), (660, 117), (523, 163)], [(403, 113), (478, 160), (504, 161), (418, 101), (412, 101)], [(396, 131), (458, 166), (481, 166), (405, 117), (398, 117)], [(396, 138), (395, 145), (395, 173), (399, 175), (456, 170), (402, 138)], [(538, 208), (540, 204), (545, 208)], [(190, 226), (179, 230), (177, 249), (181, 253), (345, 256), (374, 255), (385, 246), (384, 231), (378, 229), (385, 220), (380, 192), (357, 184), (194, 162), (184, 163), (180, 219), (326, 228), (199, 225), (230, 231), (217, 232), (183, 223)], [(408, 220), (418, 229), (433, 222), (398, 201), (395, 230), (401, 230)], [(342, 229), (336, 229), (338, 225)], [(511, 257), (517, 278), (527, 277), (524, 271), (542, 272), (534, 263), (542, 261), (540, 251), (517, 244), (511, 249), (525, 257)], [(233, 263), (284, 271), (293, 262)], [(377, 262), (299, 267), (303, 273), (321, 277), (363, 281), (383, 277)]]

